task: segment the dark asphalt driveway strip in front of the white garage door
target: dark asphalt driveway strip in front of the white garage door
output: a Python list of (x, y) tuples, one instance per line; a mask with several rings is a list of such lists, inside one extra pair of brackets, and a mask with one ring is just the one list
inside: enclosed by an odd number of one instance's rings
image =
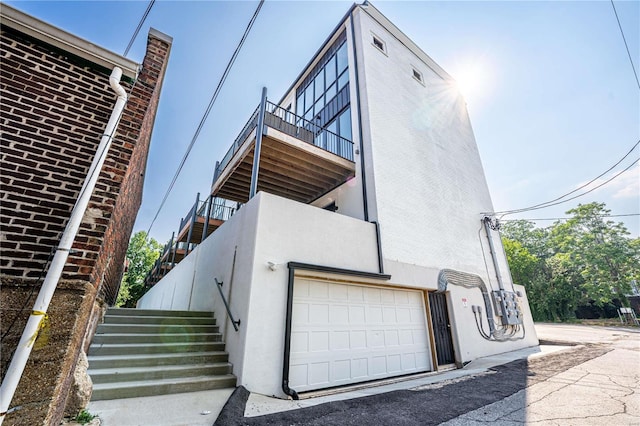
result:
[[(613, 350), (606, 344), (587, 343), (530, 360), (513, 361), (485, 373), (415, 390), (401, 390), (257, 417), (244, 417), (249, 392), (236, 389), (222, 409), (216, 426), (236, 425), (437, 425), (480, 424), (461, 419), (523, 390), (601, 357)], [(519, 402), (515, 402), (519, 404)], [(520, 407), (516, 407), (520, 408)], [(482, 410), (480, 417), (482, 417)], [(476, 413), (477, 414), (477, 413)], [(640, 418), (637, 418), (640, 422)], [(522, 424), (515, 421), (514, 424)]]

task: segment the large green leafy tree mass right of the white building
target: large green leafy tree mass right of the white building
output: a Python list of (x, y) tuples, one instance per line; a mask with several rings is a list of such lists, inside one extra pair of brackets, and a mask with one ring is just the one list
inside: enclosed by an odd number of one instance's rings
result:
[(502, 226), (512, 277), (527, 288), (537, 321), (574, 318), (581, 305), (624, 303), (631, 280), (640, 278), (640, 239), (606, 220), (610, 210), (603, 203), (566, 213), (570, 219), (548, 228), (526, 220)]

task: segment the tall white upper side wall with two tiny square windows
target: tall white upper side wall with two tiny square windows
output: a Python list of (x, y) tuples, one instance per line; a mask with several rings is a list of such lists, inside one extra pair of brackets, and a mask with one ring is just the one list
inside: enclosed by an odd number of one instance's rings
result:
[[(481, 213), (493, 207), (465, 102), (451, 80), (368, 14), (356, 9), (355, 16), (365, 152), (374, 165), (373, 215), (384, 257), (481, 274)], [(385, 52), (373, 45), (374, 35)]]

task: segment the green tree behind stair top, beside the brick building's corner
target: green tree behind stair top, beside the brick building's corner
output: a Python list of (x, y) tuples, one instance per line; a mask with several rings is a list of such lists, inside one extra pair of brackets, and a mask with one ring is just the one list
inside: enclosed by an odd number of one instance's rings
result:
[(127, 248), (127, 271), (122, 277), (116, 306), (132, 308), (145, 292), (144, 278), (160, 256), (162, 245), (145, 231), (136, 232)]

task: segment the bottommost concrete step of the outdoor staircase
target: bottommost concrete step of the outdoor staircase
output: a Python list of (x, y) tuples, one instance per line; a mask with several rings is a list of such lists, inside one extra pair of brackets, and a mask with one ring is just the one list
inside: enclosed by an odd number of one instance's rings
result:
[(182, 392), (220, 389), (236, 386), (236, 377), (201, 376), (176, 379), (142, 380), (128, 383), (101, 383), (93, 386), (92, 401), (166, 395)]

